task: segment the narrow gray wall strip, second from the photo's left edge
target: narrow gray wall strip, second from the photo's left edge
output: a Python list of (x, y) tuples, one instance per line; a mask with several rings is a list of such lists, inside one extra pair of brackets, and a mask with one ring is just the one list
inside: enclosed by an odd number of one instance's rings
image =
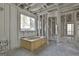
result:
[(4, 4), (4, 7), (5, 7), (5, 13), (4, 13), (4, 33), (5, 33), (5, 39), (6, 40), (8, 40), (8, 48), (10, 47), (10, 40), (9, 40), (9, 38), (10, 38), (10, 36), (9, 36), (9, 31), (10, 31), (10, 29), (9, 29), (9, 26), (10, 26), (10, 19), (9, 19), (9, 17), (10, 17), (10, 9), (9, 9), (9, 5), (7, 5), (7, 4)]

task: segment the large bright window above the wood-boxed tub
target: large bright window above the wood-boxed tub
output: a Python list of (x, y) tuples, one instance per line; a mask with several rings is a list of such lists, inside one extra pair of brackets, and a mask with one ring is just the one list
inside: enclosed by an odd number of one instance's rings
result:
[(21, 14), (21, 31), (34, 31), (35, 30), (35, 19)]

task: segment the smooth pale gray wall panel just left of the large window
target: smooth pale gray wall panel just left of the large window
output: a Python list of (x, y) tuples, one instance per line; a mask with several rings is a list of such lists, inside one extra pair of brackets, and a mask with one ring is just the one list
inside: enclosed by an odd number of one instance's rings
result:
[(17, 48), (17, 9), (11, 6), (10, 9), (10, 40), (11, 40), (11, 49)]

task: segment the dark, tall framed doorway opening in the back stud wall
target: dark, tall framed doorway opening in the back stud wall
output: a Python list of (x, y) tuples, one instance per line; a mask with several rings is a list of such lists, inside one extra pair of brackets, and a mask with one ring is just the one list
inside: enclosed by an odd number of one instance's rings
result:
[(48, 18), (48, 39), (54, 40), (57, 34), (56, 17)]

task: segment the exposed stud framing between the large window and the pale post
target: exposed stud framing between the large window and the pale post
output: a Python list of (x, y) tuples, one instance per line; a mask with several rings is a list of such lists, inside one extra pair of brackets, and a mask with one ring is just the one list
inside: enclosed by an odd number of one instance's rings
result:
[(38, 15), (38, 36), (45, 36), (49, 40), (54, 40), (57, 35), (56, 17), (48, 17), (47, 14)]

